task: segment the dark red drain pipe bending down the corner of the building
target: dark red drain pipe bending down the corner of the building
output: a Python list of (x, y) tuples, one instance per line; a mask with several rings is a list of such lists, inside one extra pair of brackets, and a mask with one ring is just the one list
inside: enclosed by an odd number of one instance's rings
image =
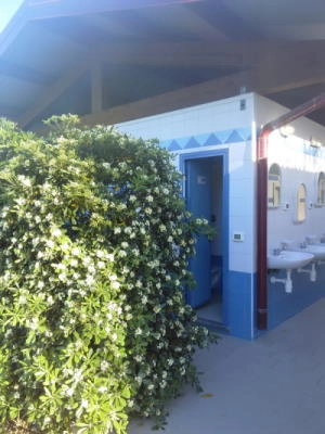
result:
[(265, 124), (257, 142), (257, 284), (258, 330), (268, 328), (268, 143), (272, 131), (325, 105), (325, 92)]

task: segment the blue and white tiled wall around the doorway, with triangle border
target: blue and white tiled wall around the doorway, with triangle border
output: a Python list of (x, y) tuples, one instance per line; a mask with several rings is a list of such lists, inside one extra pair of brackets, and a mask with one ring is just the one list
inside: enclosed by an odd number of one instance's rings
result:
[[(233, 335), (253, 337), (255, 281), (255, 124), (253, 95), (245, 94), (146, 117), (117, 127), (135, 137), (157, 138), (176, 156), (226, 155), (224, 179), (227, 224), (222, 251), (223, 318)], [(180, 166), (179, 166), (180, 167)], [(242, 233), (242, 242), (233, 241)]]

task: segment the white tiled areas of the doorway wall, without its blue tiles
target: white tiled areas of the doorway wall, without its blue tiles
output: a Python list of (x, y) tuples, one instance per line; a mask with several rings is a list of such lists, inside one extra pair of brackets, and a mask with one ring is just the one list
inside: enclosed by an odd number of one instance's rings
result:
[[(243, 101), (245, 108), (243, 110)], [(242, 272), (255, 271), (255, 124), (253, 94), (244, 94), (190, 108), (165, 113), (117, 125), (117, 127), (143, 139), (158, 138), (160, 141), (182, 139), (191, 136), (251, 128), (253, 140), (218, 144), (191, 150), (181, 150), (178, 155), (214, 149), (229, 150), (229, 252), (230, 269)], [(244, 242), (234, 242), (234, 232), (244, 233)]]

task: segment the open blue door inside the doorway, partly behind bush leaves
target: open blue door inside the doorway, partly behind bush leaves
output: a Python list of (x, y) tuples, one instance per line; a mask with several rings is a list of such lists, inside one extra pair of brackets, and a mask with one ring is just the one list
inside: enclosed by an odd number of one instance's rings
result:
[[(186, 203), (187, 209), (197, 218), (211, 219), (211, 177), (212, 165), (209, 158), (187, 159)], [(199, 237), (196, 242), (196, 255), (190, 259), (190, 269), (197, 286), (186, 292), (186, 303), (198, 307), (211, 298), (211, 252), (210, 242)]]

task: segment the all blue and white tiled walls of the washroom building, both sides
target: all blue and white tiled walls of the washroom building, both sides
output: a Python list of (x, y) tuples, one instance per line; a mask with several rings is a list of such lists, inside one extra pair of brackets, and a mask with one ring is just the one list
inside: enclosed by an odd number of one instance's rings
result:
[[(226, 225), (223, 226), (224, 267), (223, 318), (231, 334), (247, 340), (258, 335), (256, 328), (257, 220), (256, 220), (256, 140), (257, 131), (287, 110), (257, 94), (244, 94), (185, 110), (123, 123), (117, 127), (135, 137), (157, 138), (174, 154), (180, 168), (184, 157), (225, 155), (224, 179)], [(297, 186), (303, 182), (308, 203), (315, 203), (316, 177), (325, 171), (324, 151), (310, 149), (310, 138), (325, 143), (325, 129), (309, 119), (294, 123), (295, 136), (272, 133), (269, 164), (282, 170), (282, 203), (269, 210), (269, 248), (284, 240), (302, 241), (307, 234), (325, 232), (325, 208), (310, 206), (304, 222), (294, 220)], [(234, 234), (240, 233), (242, 241)], [(294, 292), (286, 294), (282, 284), (269, 283), (269, 328), (284, 321), (325, 295), (325, 266), (317, 282), (308, 276), (294, 276)]]

